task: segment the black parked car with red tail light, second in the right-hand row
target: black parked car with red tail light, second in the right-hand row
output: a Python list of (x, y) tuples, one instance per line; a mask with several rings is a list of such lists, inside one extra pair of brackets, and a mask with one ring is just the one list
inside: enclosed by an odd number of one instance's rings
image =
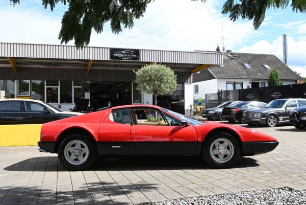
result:
[(224, 107), (222, 115), (228, 122), (242, 121), (242, 113), (250, 109), (259, 109), (267, 105), (264, 102), (258, 101), (244, 101), (233, 106)]

